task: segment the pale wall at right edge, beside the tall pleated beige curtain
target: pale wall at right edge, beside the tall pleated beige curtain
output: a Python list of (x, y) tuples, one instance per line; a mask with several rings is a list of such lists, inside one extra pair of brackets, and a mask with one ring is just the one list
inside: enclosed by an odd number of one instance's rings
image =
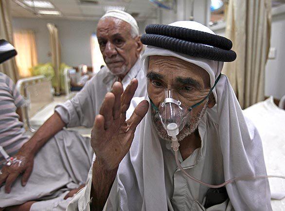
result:
[[(214, 30), (225, 36), (225, 28)], [(285, 13), (272, 16), (270, 47), (276, 49), (276, 57), (268, 58), (265, 68), (265, 96), (280, 99), (285, 95)]]

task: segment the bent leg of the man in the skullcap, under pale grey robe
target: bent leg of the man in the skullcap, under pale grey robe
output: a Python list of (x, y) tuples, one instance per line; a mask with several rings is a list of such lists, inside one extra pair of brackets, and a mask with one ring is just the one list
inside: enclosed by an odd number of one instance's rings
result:
[[(36, 154), (34, 169), (25, 187), (18, 177), (9, 194), (0, 188), (1, 205), (9, 207), (32, 200), (49, 200), (85, 183), (92, 164), (89, 138), (62, 130)], [(63, 196), (64, 197), (64, 196)]]

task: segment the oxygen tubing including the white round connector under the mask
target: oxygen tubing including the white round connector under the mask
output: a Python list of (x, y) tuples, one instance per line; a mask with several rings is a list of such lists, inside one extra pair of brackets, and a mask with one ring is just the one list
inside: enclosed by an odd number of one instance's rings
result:
[(230, 184), (236, 180), (248, 180), (248, 179), (259, 179), (259, 178), (270, 178), (270, 177), (276, 177), (276, 178), (282, 178), (285, 179), (285, 176), (279, 176), (279, 175), (263, 175), (263, 176), (239, 176), (239, 177), (234, 177), (232, 179), (229, 179), (225, 182), (223, 182), (222, 184), (219, 185), (211, 185), (211, 184), (207, 184), (205, 182), (202, 182), (198, 179), (196, 179), (195, 177), (191, 176), (189, 173), (187, 173), (183, 167), (181, 166), (179, 160), (178, 160), (178, 150), (179, 150), (179, 142), (177, 139), (177, 135), (179, 134), (179, 130), (178, 130), (178, 126), (176, 123), (170, 123), (169, 125), (167, 125), (167, 133), (169, 136), (171, 136), (171, 148), (173, 149), (174, 153), (175, 153), (175, 160), (176, 160), (176, 164), (178, 166), (178, 168), (181, 170), (182, 173), (184, 173), (187, 177), (189, 177), (190, 179), (194, 180), (197, 183), (200, 183), (204, 186), (207, 186), (209, 188), (221, 188), (227, 184)]

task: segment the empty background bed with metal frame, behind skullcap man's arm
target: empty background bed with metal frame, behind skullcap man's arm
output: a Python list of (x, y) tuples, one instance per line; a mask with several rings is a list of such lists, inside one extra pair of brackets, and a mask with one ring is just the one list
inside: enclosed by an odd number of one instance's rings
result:
[[(69, 87), (68, 71), (64, 71), (65, 87)], [(52, 82), (45, 76), (35, 76), (19, 79), (16, 84), (17, 90), (24, 97), (25, 102), (22, 106), (23, 121), (30, 134), (36, 130), (54, 113), (54, 108), (59, 103), (63, 103), (76, 95), (65, 90), (65, 96), (54, 96)], [(91, 129), (85, 127), (71, 128), (84, 136), (90, 136)]]

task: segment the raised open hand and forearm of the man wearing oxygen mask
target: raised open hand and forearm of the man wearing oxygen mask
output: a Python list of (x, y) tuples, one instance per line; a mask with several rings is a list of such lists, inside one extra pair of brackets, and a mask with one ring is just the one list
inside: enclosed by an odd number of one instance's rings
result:
[(126, 121), (126, 111), (137, 87), (138, 80), (132, 79), (123, 93), (122, 84), (115, 82), (112, 93), (105, 96), (100, 114), (95, 117), (91, 134), (91, 146), (96, 154), (90, 192), (92, 211), (103, 210), (119, 164), (129, 151), (136, 128), (148, 110), (148, 102), (143, 100)]

